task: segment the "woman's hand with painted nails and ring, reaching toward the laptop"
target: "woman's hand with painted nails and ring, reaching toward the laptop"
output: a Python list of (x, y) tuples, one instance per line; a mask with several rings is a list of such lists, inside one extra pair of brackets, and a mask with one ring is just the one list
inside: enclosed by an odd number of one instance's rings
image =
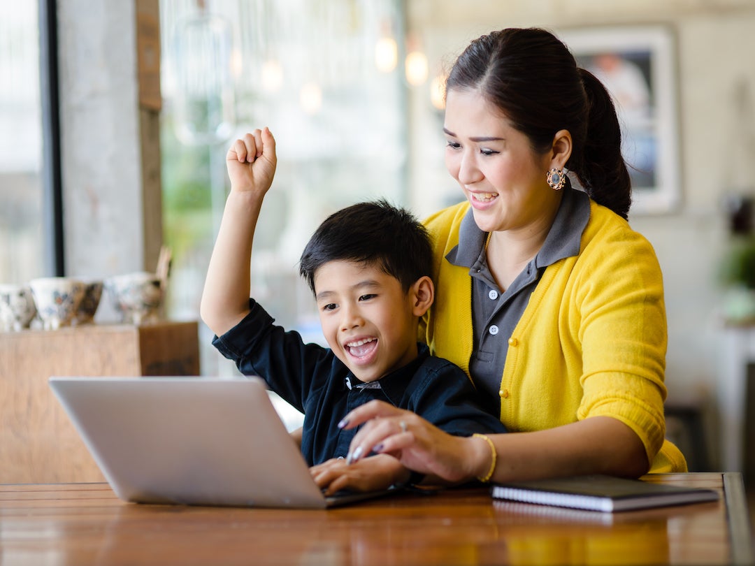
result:
[(370, 401), (354, 409), (339, 426), (351, 429), (360, 424), (364, 426), (351, 441), (347, 457), (352, 465), (374, 451), (390, 454), (408, 469), (452, 483), (480, 475), (479, 468), (485, 466), (487, 448), (481, 451), (480, 441), (449, 435), (411, 411), (384, 401)]

